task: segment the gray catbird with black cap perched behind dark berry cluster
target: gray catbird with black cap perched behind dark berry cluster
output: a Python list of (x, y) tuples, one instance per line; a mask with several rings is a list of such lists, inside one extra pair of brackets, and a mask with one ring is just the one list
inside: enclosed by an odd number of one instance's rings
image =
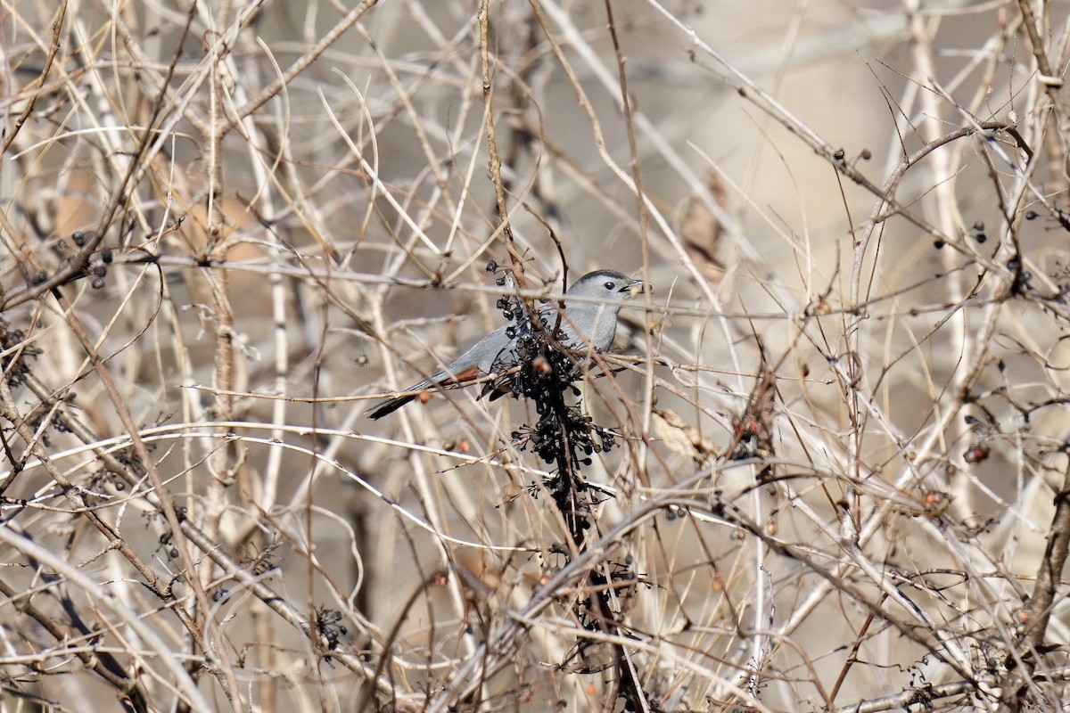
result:
[[(587, 273), (568, 289), (566, 295), (600, 297), (602, 301), (565, 303), (561, 319), (561, 342), (568, 348), (586, 348), (590, 344), (596, 352), (605, 352), (613, 345), (616, 335), (616, 315), (625, 300), (631, 299), (643, 290), (642, 280), (633, 280), (612, 269)], [(539, 314), (550, 328), (556, 322), (556, 307), (545, 305)], [(406, 389), (403, 396), (387, 399), (370, 410), (370, 418), (382, 418), (406, 405), (419, 394), (433, 389), (453, 389), (468, 386), (485, 378), (495, 369), (516, 365), (516, 343), (506, 334), (508, 325), (502, 325), (475, 343), (457, 360), (430, 378)], [(577, 337), (577, 331), (582, 338)]]

